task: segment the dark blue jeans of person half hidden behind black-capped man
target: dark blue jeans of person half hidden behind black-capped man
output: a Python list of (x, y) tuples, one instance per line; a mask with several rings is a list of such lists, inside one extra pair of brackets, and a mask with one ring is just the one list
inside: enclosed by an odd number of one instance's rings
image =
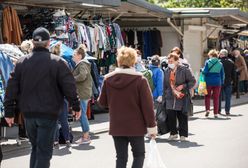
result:
[[(68, 124), (68, 103), (64, 100), (64, 108), (59, 115), (59, 123), (61, 125), (62, 133), (66, 141), (70, 140), (70, 129)], [(59, 141), (59, 124), (57, 124), (55, 141)]]

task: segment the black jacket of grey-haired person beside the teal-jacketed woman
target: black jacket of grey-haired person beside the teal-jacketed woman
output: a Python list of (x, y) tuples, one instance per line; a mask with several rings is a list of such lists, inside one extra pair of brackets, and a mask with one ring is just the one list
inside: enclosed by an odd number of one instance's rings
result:
[(224, 81), (224, 86), (226, 85), (231, 85), (232, 82), (235, 81), (235, 65), (234, 62), (228, 58), (228, 57), (223, 57), (220, 59), (221, 63), (223, 64), (224, 67), (224, 72), (225, 72), (225, 81)]

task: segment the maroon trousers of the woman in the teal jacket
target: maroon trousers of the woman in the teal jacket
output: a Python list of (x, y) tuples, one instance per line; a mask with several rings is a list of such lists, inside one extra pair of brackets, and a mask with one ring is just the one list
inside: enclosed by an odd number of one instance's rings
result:
[(208, 94), (205, 96), (206, 111), (210, 110), (210, 99), (211, 99), (212, 94), (213, 94), (214, 114), (218, 114), (221, 86), (207, 86), (207, 90), (208, 90)]

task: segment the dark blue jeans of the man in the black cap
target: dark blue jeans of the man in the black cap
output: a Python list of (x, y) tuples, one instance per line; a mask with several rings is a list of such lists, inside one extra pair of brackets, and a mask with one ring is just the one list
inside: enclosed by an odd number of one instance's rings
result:
[(57, 121), (26, 118), (25, 124), (32, 145), (30, 168), (49, 168)]

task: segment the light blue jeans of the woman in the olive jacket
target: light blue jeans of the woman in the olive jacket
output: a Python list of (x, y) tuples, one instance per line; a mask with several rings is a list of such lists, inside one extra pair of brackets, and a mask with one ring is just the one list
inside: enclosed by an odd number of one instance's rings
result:
[(88, 100), (80, 100), (80, 104), (81, 104), (81, 109), (82, 109), (80, 123), (81, 123), (82, 131), (86, 133), (90, 131), (89, 121), (86, 115)]

